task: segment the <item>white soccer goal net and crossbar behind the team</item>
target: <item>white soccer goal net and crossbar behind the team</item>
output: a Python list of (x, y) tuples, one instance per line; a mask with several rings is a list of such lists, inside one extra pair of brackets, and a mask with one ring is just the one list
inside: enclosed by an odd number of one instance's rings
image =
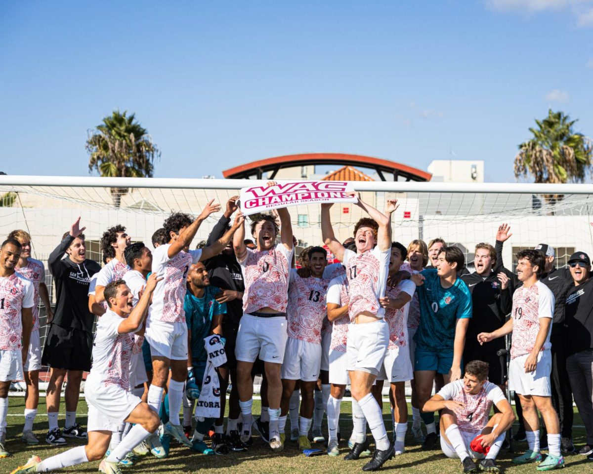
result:
[[(136, 186), (134, 186), (136, 184)], [(144, 241), (162, 227), (171, 211), (193, 215), (210, 200), (224, 210), (225, 203), (253, 180), (164, 180), (71, 177), (0, 177), (0, 236), (24, 229), (31, 235), (32, 256), (46, 264), (46, 284), (55, 302), (47, 258), (64, 232), (81, 216), (85, 226), (87, 258), (101, 262), (100, 238), (110, 226), (122, 224), (133, 241)], [(519, 249), (546, 243), (556, 249), (557, 266), (575, 251), (593, 249), (591, 185), (454, 184), (432, 182), (353, 182), (362, 199), (377, 209), (397, 198), (393, 239), (407, 246), (413, 239), (433, 238), (458, 245), (473, 270), (474, 248), (494, 244), (500, 223), (513, 233), (505, 242), (503, 260), (514, 270)], [(320, 206), (289, 207), (297, 254), (308, 245), (321, 245)], [(202, 223), (192, 248), (208, 238), (221, 213)], [(334, 204), (331, 220), (336, 237), (352, 236), (363, 216), (355, 204)], [(366, 215), (366, 214), (365, 214)], [(249, 221), (248, 221), (249, 222)], [(246, 238), (251, 238), (247, 228)], [(42, 344), (47, 332), (45, 310), (40, 309)], [(46, 376), (42, 373), (42, 381)], [(15, 385), (24, 389), (22, 384)], [(43, 385), (42, 385), (43, 389)]]

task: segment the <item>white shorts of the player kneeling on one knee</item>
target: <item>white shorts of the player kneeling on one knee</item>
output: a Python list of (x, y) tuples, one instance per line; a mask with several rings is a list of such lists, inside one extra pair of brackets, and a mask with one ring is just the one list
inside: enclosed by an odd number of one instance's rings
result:
[(89, 376), (84, 385), (88, 405), (87, 431), (117, 431), (133, 409), (142, 403), (119, 385), (104, 386)]

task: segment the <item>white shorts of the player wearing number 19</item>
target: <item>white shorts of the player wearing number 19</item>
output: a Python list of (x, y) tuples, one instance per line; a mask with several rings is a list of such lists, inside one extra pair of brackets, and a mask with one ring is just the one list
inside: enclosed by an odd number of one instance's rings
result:
[(520, 395), (551, 396), (550, 372), (552, 356), (550, 350), (541, 351), (537, 355), (537, 366), (534, 372), (525, 373), (525, 360), (529, 354), (519, 355), (511, 359), (509, 364), (509, 390)]

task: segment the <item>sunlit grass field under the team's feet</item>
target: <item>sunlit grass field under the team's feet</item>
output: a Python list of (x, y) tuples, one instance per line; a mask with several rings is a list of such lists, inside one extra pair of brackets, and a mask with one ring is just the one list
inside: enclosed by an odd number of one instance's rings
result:
[[(62, 410), (63, 410), (62, 402)], [(384, 403), (385, 425), (388, 428), (391, 437), (391, 415), (387, 411), (388, 403)], [(81, 400), (78, 406), (79, 413), (86, 412), (86, 404)], [(259, 413), (259, 401), (254, 402), (254, 412)], [(53, 456), (66, 447), (53, 447), (44, 443), (47, 431), (47, 417), (37, 416), (34, 425), (34, 431), (37, 437), (42, 440), (38, 446), (28, 447), (21, 443), (20, 435), (23, 428), (24, 399), (20, 397), (11, 397), (9, 400), (9, 417), (7, 433), (7, 449), (12, 453), (11, 457), (0, 460), (0, 472), (8, 473), (18, 465), (26, 462), (28, 457), (37, 454), (42, 458)], [(42, 398), (39, 405), (39, 413), (46, 412), (45, 400)], [(410, 420), (412, 419), (410, 411)], [(63, 416), (60, 416), (60, 427), (63, 427)], [(86, 417), (79, 417), (78, 421), (86, 425)], [(287, 430), (290, 423), (287, 425)], [(581, 418), (575, 413), (575, 425), (582, 425)], [(327, 429), (324, 421), (324, 430)], [(342, 403), (342, 414), (340, 414), (340, 427), (342, 437), (349, 437), (352, 430), (352, 421), (350, 415), (350, 403)], [(516, 427), (515, 427), (516, 429)], [(577, 447), (585, 444), (584, 429), (575, 428), (574, 441)], [(75, 446), (76, 441), (68, 438), (68, 446)], [(522, 453), (526, 449), (526, 443), (515, 443), (515, 451)], [(150, 454), (145, 456), (136, 466), (127, 468), (127, 472), (154, 472), (154, 473), (187, 473), (208, 470), (209, 473), (352, 473), (362, 472), (361, 467), (366, 460), (344, 461), (343, 456), (329, 457), (326, 455), (305, 457), (298, 450), (296, 443), (287, 441), (282, 453), (273, 453), (269, 446), (264, 444), (259, 437), (254, 437), (253, 446), (248, 451), (240, 453), (231, 453), (228, 456), (203, 456), (192, 451), (178, 447), (172, 444), (170, 456), (167, 459), (156, 459)], [(315, 446), (313, 446), (315, 447)], [(323, 448), (323, 446), (318, 446)], [(340, 451), (346, 454), (348, 449), (346, 441), (340, 443)], [(535, 466), (514, 466), (511, 463), (513, 453), (503, 449), (499, 454), (499, 465), (508, 472), (512, 473), (534, 473)], [(367, 459), (368, 460), (368, 459)], [(75, 466), (65, 469), (66, 472), (97, 472), (98, 462), (88, 463), (87, 465)], [(572, 454), (566, 457), (566, 469), (573, 473), (591, 473), (593, 463), (588, 461), (585, 456)], [(461, 472), (460, 463), (447, 459), (440, 450), (423, 451), (419, 445), (413, 444), (413, 440), (408, 431), (406, 439), (406, 452), (388, 461), (382, 470), (390, 472), (393, 469), (406, 469), (407, 472), (432, 474), (432, 473), (458, 473)]]

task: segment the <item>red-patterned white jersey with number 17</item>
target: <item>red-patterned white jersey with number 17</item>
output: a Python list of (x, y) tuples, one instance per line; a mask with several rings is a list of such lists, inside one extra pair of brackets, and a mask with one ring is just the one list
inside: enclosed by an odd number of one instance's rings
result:
[(354, 321), (362, 312), (371, 313), (377, 318), (385, 316), (385, 309), (379, 305), (379, 299), (385, 294), (390, 257), (391, 247), (382, 252), (375, 246), (362, 254), (344, 250), (350, 321)]

